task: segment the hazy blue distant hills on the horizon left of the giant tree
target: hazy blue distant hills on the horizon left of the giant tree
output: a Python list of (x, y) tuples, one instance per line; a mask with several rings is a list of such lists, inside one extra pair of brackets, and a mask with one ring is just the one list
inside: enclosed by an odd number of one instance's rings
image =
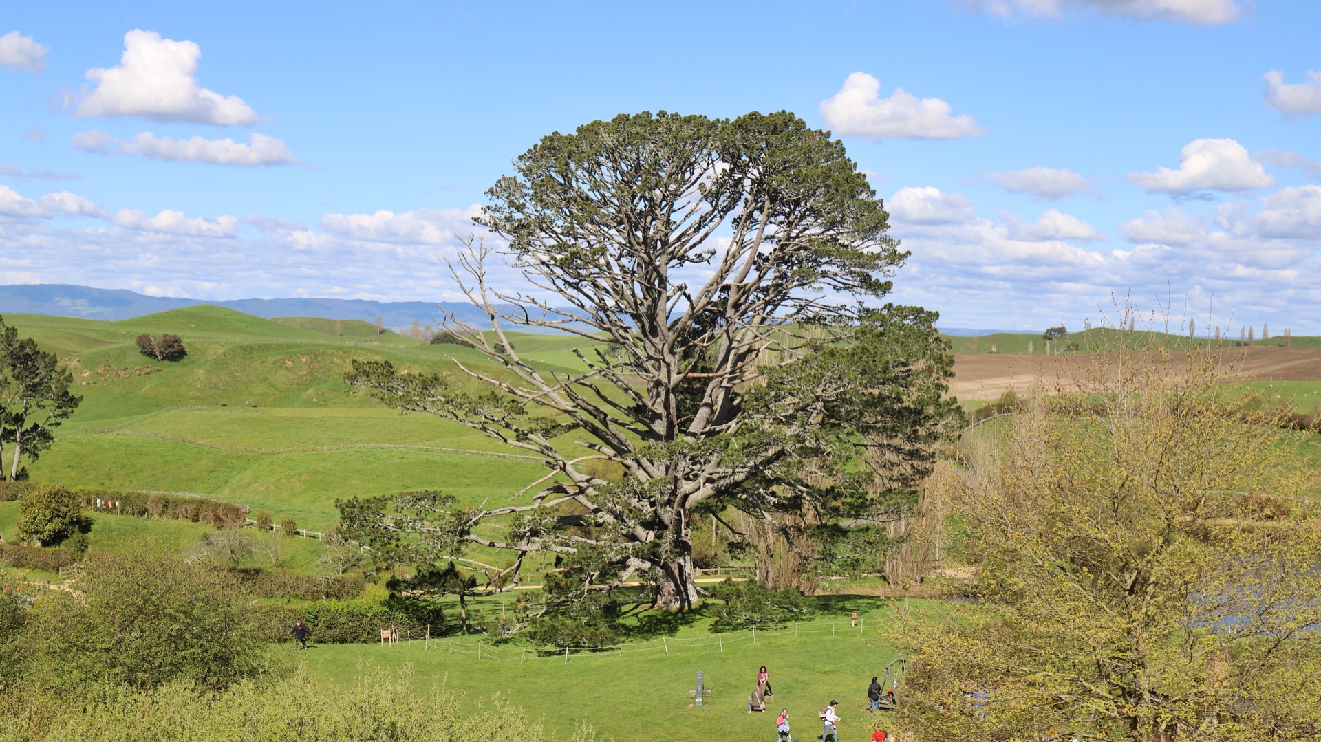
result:
[[(431, 301), (370, 301), (362, 298), (235, 298), (205, 301), (144, 296), (127, 289), (96, 289), (66, 284), (21, 284), (0, 287), (0, 314), (49, 314), (86, 320), (131, 320), (182, 306), (214, 304), (273, 320), (276, 317), (324, 317), (374, 322), (403, 330), (413, 322), (435, 325), (441, 310)], [(486, 316), (466, 302), (440, 302), (465, 322), (485, 323)]]

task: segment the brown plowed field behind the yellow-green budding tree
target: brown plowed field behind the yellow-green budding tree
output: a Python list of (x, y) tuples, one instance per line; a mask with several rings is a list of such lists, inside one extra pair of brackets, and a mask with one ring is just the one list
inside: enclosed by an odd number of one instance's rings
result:
[[(1262, 380), (1321, 380), (1321, 349), (1254, 346), (1225, 351), (1236, 358), (1236, 374)], [(1089, 356), (1011, 355), (991, 353), (954, 354), (951, 391), (959, 399), (996, 399), (1008, 389), (1026, 392), (1037, 382), (1067, 378)]]

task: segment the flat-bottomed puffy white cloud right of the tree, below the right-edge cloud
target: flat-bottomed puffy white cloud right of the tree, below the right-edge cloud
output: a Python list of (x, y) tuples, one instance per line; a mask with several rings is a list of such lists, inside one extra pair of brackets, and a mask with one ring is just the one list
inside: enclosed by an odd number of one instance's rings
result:
[(1252, 190), (1275, 185), (1262, 164), (1232, 139), (1198, 139), (1182, 149), (1177, 170), (1129, 173), (1148, 193), (1188, 194), (1197, 190)]

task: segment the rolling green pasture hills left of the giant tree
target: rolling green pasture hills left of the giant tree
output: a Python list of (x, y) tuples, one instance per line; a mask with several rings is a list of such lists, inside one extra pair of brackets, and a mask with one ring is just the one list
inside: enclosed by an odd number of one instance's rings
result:
[[(499, 374), (470, 349), (361, 334), (349, 321), (338, 337), (333, 321), (276, 322), (215, 306), (119, 322), (5, 321), (55, 350), (85, 396), (57, 445), (29, 465), (33, 479), (214, 495), (320, 529), (334, 522), (337, 498), (444, 489), (469, 503), (503, 502), (544, 474), (534, 461), (478, 455), (517, 452), (439, 419), (400, 416), (342, 382), (354, 358), (446, 374), (460, 386), (468, 382), (446, 355)], [(188, 358), (160, 363), (137, 353), (139, 333), (162, 331), (184, 338)], [(579, 367), (569, 353), (579, 339), (514, 343), (543, 367)]]

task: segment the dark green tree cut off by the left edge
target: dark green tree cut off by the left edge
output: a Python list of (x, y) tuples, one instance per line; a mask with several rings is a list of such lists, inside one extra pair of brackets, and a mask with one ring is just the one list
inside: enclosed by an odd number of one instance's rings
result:
[(36, 461), (54, 444), (54, 428), (78, 409), (82, 397), (69, 392), (71, 384), (73, 374), (54, 353), (41, 350), (32, 338), (18, 339), (17, 329), (0, 318), (0, 452), (13, 444), (11, 479), (26, 475), (18, 466), (21, 457)]

